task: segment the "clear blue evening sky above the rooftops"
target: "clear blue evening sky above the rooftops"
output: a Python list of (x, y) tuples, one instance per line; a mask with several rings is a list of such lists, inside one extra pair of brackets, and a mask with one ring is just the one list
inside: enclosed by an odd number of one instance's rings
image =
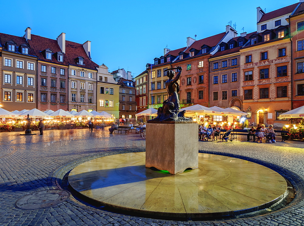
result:
[[(203, 39), (236, 23), (238, 33), (256, 31), (256, 8), (270, 12), (299, 1), (19, 1), (2, 4), (0, 32), (23, 36), (26, 27), (35, 35), (92, 41), (92, 60), (110, 71), (129, 68), (134, 76), (171, 50), (186, 46), (186, 38)], [(12, 11), (13, 10), (13, 11)]]

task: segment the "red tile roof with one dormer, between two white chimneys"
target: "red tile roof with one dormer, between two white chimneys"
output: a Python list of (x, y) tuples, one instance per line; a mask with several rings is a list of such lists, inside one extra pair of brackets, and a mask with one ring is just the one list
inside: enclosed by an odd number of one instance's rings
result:
[[(99, 67), (98, 64), (90, 60), (87, 53), (85, 52), (85, 49), (83, 48), (82, 44), (71, 42), (71, 41), (65, 41), (65, 56), (67, 57), (67, 60), (69, 64), (77, 66), (77, 67), (83, 67), (88, 68), (92, 70), (97, 70), (96, 67)], [(84, 58), (84, 64), (85, 65), (79, 65), (76, 63), (75, 59), (78, 56), (82, 56)]]

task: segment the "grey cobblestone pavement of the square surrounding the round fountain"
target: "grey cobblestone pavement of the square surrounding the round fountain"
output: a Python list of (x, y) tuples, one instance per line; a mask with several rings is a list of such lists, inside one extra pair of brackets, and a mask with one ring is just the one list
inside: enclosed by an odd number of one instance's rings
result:
[(287, 207), (257, 217), (169, 221), (98, 210), (85, 206), (72, 196), (52, 207), (16, 208), (16, 200), (28, 194), (62, 189), (60, 183), (64, 174), (81, 162), (112, 151), (130, 152), (145, 148), (145, 140), (139, 134), (112, 135), (107, 128), (92, 132), (88, 129), (52, 130), (45, 131), (43, 136), (20, 136), (19, 133), (0, 133), (0, 225), (304, 225), (303, 142), (199, 142), (202, 152), (240, 156), (281, 172), (292, 182), (296, 197)]

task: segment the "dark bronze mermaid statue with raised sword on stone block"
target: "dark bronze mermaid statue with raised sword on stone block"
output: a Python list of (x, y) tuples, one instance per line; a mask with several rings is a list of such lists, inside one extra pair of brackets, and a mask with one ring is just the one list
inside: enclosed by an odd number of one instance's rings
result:
[[(178, 69), (179, 72), (175, 78), (173, 69)], [(167, 76), (169, 77), (166, 81), (166, 89), (168, 92), (168, 99), (163, 102), (163, 106), (158, 108), (157, 117), (149, 121), (192, 121), (191, 118), (185, 118), (185, 111), (179, 111), (180, 105), (178, 100), (179, 85), (178, 80), (181, 77), (182, 67), (169, 68)]]

